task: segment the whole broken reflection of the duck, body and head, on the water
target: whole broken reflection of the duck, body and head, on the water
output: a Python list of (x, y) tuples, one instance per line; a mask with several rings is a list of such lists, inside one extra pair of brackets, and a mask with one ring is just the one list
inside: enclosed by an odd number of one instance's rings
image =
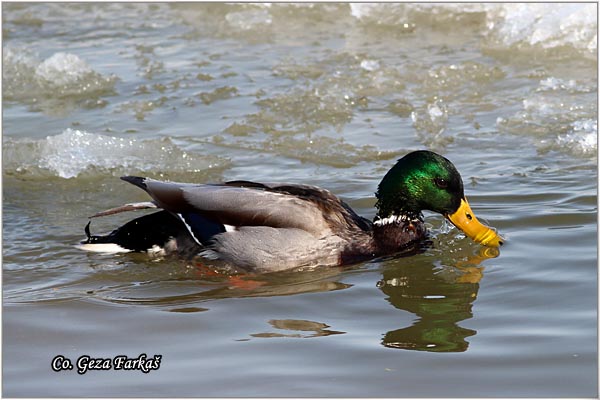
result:
[[(454, 252), (445, 256), (440, 249), (413, 257), (390, 258), (382, 263), (384, 269), (377, 286), (386, 295), (386, 300), (395, 308), (418, 317), (411, 326), (385, 333), (382, 339), (385, 347), (431, 352), (467, 350), (469, 342), (466, 338), (477, 332), (460, 326), (460, 323), (473, 316), (473, 302), (484, 270), (480, 264), (496, 257), (498, 251), (485, 248), (475, 255), (470, 253), (472, 250), (465, 251), (468, 253), (461, 255)], [(172, 277), (170, 285), (165, 285), (164, 279), (158, 279), (139, 285), (110, 286), (88, 293), (113, 303), (153, 306), (176, 313), (198, 313), (208, 310), (201, 305), (216, 299), (290, 296), (352, 287), (352, 284), (343, 282), (348, 268), (215, 276), (196, 267), (190, 268), (194, 275), (199, 274), (196, 278), (190, 279), (191, 272), (186, 269), (181, 280)], [(181, 294), (184, 290), (189, 292)], [(323, 322), (310, 320), (272, 319), (268, 323), (273, 330), (250, 336), (312, 338), (345, 333), (328, 329), (329, 326)]]

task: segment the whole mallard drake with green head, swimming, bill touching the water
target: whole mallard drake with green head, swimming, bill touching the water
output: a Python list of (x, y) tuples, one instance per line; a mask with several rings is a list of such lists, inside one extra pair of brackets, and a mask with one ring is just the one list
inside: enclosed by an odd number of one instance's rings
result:
[(136, 218), (104, 236), (91, 235), (88, 223), (83, 249), (200, 256), (253, 272), (337, 266), (414, 253), (427, 237), (422, 210), (442, 214), (482, 245), (503, 243), (471, 211), (454, 165), (431, 151), (407, 154), (383, 177), (373, 221), (316, 186), (121, 179), (145, 190), (153, 201), (93, 217), (144, 208), (162, 211)]

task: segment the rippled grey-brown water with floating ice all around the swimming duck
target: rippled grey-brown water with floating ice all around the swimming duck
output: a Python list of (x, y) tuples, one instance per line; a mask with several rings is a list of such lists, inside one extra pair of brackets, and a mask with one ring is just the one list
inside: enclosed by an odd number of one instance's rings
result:
[[(3, 4), (3, 395), (596, 396), (596, 7)], [(420, 255), (230, 280), (73, 246), (147, 200), (124, 174), (311, 183), (371, 218), (423, 148), (499, 254), (433, 214)]]

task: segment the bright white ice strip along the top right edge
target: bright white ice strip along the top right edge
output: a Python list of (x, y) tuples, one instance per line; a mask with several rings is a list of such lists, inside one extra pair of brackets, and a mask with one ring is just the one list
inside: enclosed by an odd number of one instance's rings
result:
[(569, 46), (595, 57), (596, 7), (595, 3), (351, 3), (350, 14), (363, 23), (392, 24), (402, 30), (424, 16), (456, 22), (468, 14), (484, 13), (483, 36), (491, 39), (494, 47)]

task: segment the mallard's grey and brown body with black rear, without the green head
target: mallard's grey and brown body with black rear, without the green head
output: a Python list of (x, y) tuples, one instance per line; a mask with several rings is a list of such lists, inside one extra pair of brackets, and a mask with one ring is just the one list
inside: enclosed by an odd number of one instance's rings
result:
[[(331, 192), (315, 186), (122, 179), (144, 189), (154, 205), (171, 216), (159, 212), (141, 217), (112, 236), (88, 233), (85, 243), (111, 241), (135, 251), (161, 246), (180, 255), (198, 254), (243, 270), (265, 272), (342, 265), (407, 250), (425, 234), (420, 221), (397, 219), (390, 224), (373, 224)], [(133, 248), (129, 238), (139, 236), (139, 229), (148, 234), (147, 226), (159, 217), (162, 225), (167, 224), (164, 219), (172, 217), (170, 227)], [(383, 230), (387, 232), (385, 238), (374, 240)]]

